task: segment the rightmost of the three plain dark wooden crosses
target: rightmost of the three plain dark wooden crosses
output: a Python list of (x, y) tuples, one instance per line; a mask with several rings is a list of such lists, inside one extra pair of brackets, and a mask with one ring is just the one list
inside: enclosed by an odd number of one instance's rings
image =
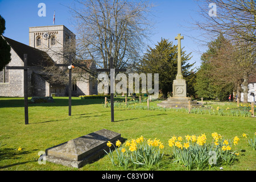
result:
[(126, 69), (115, 69), (113, 57), (110, 57), (110, 69), (96, 69), (97, 72), (110, 72), (110, 102), (111, 102), (111, 122), (114, 122), (114, 86), (115, 72), (126, 72)]

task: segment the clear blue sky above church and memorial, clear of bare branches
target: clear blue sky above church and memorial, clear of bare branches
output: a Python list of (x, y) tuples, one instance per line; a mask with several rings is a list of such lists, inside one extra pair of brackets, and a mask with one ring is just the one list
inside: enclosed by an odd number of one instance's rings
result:
[[(42, 8), (39, 3), (46, 5), (46, 16), (39, 16)], [(194, 0), (152, 0), (155, 7), (154, 14), (154, 35), (151, 36), (152, 43), (148, 46), (154, 48), (161, 38), (177, 44), (175, 36), (181, 34), (181, 47), (186, 53), (192, 52), (192, 59), (189, 63), (195, 63), (195, 68), (200, 67), (201, 53), (207, 48), (201, 46), (196, 39), (199, 32), (192, 30), (192, 18), (199, 19), (196, 14), (198, 9)], [(38, 7), (39, 6), (39, 7)], [(63, 24), (76, 34), (72, 26), (72, 16), (68, 6), (72, 6), (71, 0), (0, 0), (0, 14), (6, 20), (6, 30), (3, 34), (7, 38), (28, 45), (28, 27), (51, 26), (53, 25), (53, 14), (55, 11), (55, 24)]]

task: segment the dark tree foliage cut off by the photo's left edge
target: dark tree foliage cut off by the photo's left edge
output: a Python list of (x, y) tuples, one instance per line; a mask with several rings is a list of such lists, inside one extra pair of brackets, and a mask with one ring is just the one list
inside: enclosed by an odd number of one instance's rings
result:
[(11, 61), (11, 47), (3, 39), (2, 34), (5, 32), (5, 19), (0, 15), (0, 71)]

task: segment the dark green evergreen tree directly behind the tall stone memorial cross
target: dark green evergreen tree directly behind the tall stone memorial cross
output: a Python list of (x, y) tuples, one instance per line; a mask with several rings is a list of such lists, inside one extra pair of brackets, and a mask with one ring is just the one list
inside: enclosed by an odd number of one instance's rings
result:
[[(195, 74), (189, 69), (193, 64), (187, 63), (191, 59), (191, 53), (185, 54), (181, 51), (181, 67), (184, 79), (187, 80), (187, 92), (189, 95), (193, 94), (193, 86), (191, 81)], [(159, 90), (166, 98), (168, 92), (172, 93), (172, 82), (177, 75), (177, 46), (173, 45), (167, 39), (155, 45), (155, 48), (148, 47), (139, 64), (139, 71), (141, 73), (158, 73), (159, 74)]]

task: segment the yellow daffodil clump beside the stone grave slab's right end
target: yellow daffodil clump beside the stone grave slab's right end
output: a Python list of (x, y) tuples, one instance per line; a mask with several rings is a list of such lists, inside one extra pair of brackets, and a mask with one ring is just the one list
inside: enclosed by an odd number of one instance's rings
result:
[[(112, 147), (111, 142), (107, 143), (108, 147)], [(159, 167), (162, 160), (164, 145), (159, 139), (145, 139), (142, 136), (137, 139), (127, 140), (121, 143), (119, 140), (113, 144), (117, 155), (113, 155), (113, 151), (106, 152), (114, 166), (118, 165), (127, 170), (129, 167), (145, 166), (152, 169), (154, 166)]]

